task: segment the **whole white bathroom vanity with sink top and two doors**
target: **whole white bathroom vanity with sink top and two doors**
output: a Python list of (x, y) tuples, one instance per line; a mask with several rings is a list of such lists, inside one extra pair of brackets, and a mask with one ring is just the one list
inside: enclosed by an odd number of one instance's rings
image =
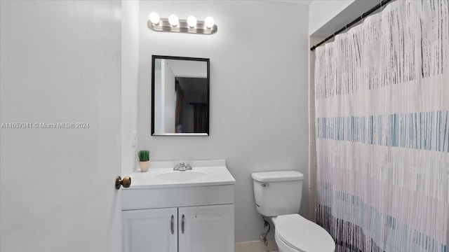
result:
[(123, 252), (234, 251), (234, 184), (225, 160), (152, 162), (122, 190)]

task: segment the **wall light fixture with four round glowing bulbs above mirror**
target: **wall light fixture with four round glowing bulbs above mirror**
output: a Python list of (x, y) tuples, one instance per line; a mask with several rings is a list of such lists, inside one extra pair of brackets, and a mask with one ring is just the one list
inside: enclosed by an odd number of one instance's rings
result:
[(183, 32), (189, 34), (215, 34), (217, 25), (212, 17), (207, 17), (204, 21), (196, 20), (191, 15), (187, 20), (177, 18), (171, 14), (168, 18), (159, 18), (159, 14), (152, 12), (149, 14), (148, 28), (153, 31)]

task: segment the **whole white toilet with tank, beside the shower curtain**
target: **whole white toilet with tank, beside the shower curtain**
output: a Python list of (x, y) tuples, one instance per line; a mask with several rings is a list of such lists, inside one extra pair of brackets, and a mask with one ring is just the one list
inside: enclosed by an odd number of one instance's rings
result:
[(335, 242), (316, 223), (297, 214), (300, 211), (302, 180), (297, 171), (255, 172), (255, 207), (272, 219), (279, 252), (334, 252)]

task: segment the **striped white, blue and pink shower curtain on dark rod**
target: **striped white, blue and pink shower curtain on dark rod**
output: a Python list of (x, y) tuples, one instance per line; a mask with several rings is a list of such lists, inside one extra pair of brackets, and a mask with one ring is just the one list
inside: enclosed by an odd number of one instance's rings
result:
[(316, 218), (337, 251), (449, 252), (449, 0), (316, 49)]

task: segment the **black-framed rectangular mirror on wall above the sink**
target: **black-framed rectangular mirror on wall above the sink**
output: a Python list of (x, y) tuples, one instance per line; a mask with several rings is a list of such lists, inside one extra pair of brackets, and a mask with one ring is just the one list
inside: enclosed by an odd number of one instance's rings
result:
[(152, 136), (209, 135), (209, 59), (152, 56)]

